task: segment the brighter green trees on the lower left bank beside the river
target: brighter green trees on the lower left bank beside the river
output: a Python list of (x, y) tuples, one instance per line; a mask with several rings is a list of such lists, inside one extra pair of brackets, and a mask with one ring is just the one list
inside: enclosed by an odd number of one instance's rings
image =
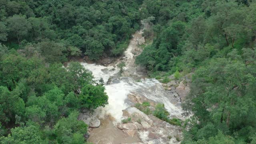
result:
[(0, 56), (0, 143), (84, 144), (87, 125), (78, 111), (108, 104), (91, 72), (78, 62), (48, 64), (37, 51)]

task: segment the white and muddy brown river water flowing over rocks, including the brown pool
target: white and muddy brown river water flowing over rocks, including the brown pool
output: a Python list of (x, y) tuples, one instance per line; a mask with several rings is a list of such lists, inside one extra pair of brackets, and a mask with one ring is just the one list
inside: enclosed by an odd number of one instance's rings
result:
[[(127, 96), (131, 92), (136, 92), (146, 98), (155, 102), (164, 103), (165, 108), (178, 118), (182, 118), (182, 110), (172, 95), (168, 94), (162, 87), (160, 82), (155, 79), (145, 79), (143, 76), (137, 74), (136, 66), (134, 64), (134, 52), (137, 47), (137, 39), (142, 37), (142, 31), (134, 34), (134, 37), (130, 41), (127, 50), (124, 52), (124, 62), (126, 64), (123, 75), (130, 77), (121, 77), (120, 82), (115, 84), (106, 84), (111, 76), (120, 75), (119, 68), (114, 66), (100, 66), (96, 64), (81, 63), (84, 68), (92, 71), (95, 80), (102, 78), (105, 83), (106, 93), (108, 94), (108, 106), (104, 108), (100, 107), (95, 110), (98, 117), (101, 120), (99, 128), (94, 128), (90, 132), (89, 142), (94, 144), (120, 144), (122, 142), (132, 143), (140, 142), (138, 136), (133, 138), (124, 136), (122, 130), (116, 128), (116, 123), (121, 122), (123, 112), (129, 106), (131, 102), (128, 102)], [(117, 61), (116, 64), (120, 63)], [(136, 75), (141, 79), (140, 82), (136, 82), (133, 76)]]

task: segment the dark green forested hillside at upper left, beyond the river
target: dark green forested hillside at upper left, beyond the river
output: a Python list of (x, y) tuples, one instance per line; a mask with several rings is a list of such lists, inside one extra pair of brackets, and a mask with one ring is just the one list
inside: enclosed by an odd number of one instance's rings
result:
[(49, 62), (65, 61), (81, 51), (92, 60), (103, 53), (118, 56), (140, 28), (140, 0), (0, 3), (0, 42), (16, 49), (35, 44)]

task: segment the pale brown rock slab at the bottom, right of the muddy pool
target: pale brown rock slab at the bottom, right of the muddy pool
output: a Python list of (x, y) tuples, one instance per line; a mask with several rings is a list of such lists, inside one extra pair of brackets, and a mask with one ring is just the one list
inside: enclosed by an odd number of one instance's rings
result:
[[(180, 142), (176, 141), (176, 138), (182, 139), (180, 126), (174, 126), (155, 116), (146, 115), (137, 108), (130, 107), (124, 110), (124, 117), (132, 118), (131, 124), (137, 126), (136, 133), (143, 144), (178, 144)], [(138, 119), (141, 120), (140, 123), (137, 122)]]

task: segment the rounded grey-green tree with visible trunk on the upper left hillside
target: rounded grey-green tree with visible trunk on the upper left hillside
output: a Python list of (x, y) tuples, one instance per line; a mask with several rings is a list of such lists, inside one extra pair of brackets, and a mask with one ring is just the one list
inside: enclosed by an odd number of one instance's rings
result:
[(28, 31), (31, 29), (31, 24), (28, 22), (26, 16), (14, 15), (6, 19), (10, 36), (16, 37), (18, 44), (21, 44), (22, 39), (27, 36)]

